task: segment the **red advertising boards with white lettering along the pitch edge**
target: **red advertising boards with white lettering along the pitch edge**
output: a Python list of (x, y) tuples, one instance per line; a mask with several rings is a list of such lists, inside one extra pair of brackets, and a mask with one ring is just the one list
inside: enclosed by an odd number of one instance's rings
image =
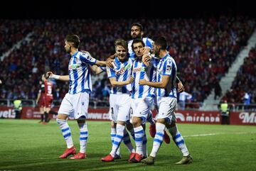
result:
[[(58, 108), (53, 108), (58, 111)], [(156, 111), (153, 111), (154, 116)], [(16, 118), (13, 107), (0, 107), (0, 118)], [(40, 119), (40, 111), (38, 107), (23, 107), (21, 111), (21, 119)], [(56, 116), (50, 115), (50, 118)], [(73, 119), (73, 118), (70, 118)], [(221, 116), (219, 111), (176, 111), (177, 123), (206, 123), (220, 124)], [(88, 109), (87, 120), (92, 121), (109, 121), (109, 109)], [(255, 125), (256, 112), (230, 112), (230, 125)]]

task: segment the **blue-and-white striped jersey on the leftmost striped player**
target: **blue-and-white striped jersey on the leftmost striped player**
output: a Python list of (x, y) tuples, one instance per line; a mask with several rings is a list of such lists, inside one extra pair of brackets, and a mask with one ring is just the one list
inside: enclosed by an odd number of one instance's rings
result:
[(70, 59), (68, 73), (70, 77), (69, 94), (79, 92), (92, 92), (90, 66), (96, 63), (96, 59), (89, 53), (76, 52)]

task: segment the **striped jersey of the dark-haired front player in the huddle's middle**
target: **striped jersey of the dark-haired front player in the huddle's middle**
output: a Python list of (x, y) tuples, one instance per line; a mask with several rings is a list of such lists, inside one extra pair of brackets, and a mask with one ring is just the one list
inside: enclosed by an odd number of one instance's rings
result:
[(155, 82), (157, 62), (158, 60), (153, 57), (149, 63), (149, 67), (146, 67), (142, 61), (138, 59), (134, 61), (132, 69), (132, 76), (134, 77), (134, 82), (132, 83), (132, 99), (155, 96), (155, 88), (140, 85), (139, 80), (146, 79), (149, 82)]

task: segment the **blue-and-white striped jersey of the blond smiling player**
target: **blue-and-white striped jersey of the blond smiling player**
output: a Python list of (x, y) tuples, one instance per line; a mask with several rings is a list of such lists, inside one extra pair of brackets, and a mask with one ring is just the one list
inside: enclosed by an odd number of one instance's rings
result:
[[(118, 82), (127, 81), (132, 74), (132, 62), (129, 58), (125, 62), (120, 62), (117, 57), (114, 58), (114, 68), (107, 67), (107, 77), (116, 77)], [(122, 87), (112, 87), (111, 94), (130, 94), (132, 92), (131, 84), (124, 85)]]

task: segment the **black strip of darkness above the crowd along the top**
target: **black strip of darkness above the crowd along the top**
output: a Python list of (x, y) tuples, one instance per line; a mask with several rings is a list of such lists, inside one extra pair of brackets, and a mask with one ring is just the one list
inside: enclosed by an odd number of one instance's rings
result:
[(219, 16), (255, 17), (255, 5), (246, 1), (129, 0), (129, 1), (5, 1), (0, 18), (166, 18)]

